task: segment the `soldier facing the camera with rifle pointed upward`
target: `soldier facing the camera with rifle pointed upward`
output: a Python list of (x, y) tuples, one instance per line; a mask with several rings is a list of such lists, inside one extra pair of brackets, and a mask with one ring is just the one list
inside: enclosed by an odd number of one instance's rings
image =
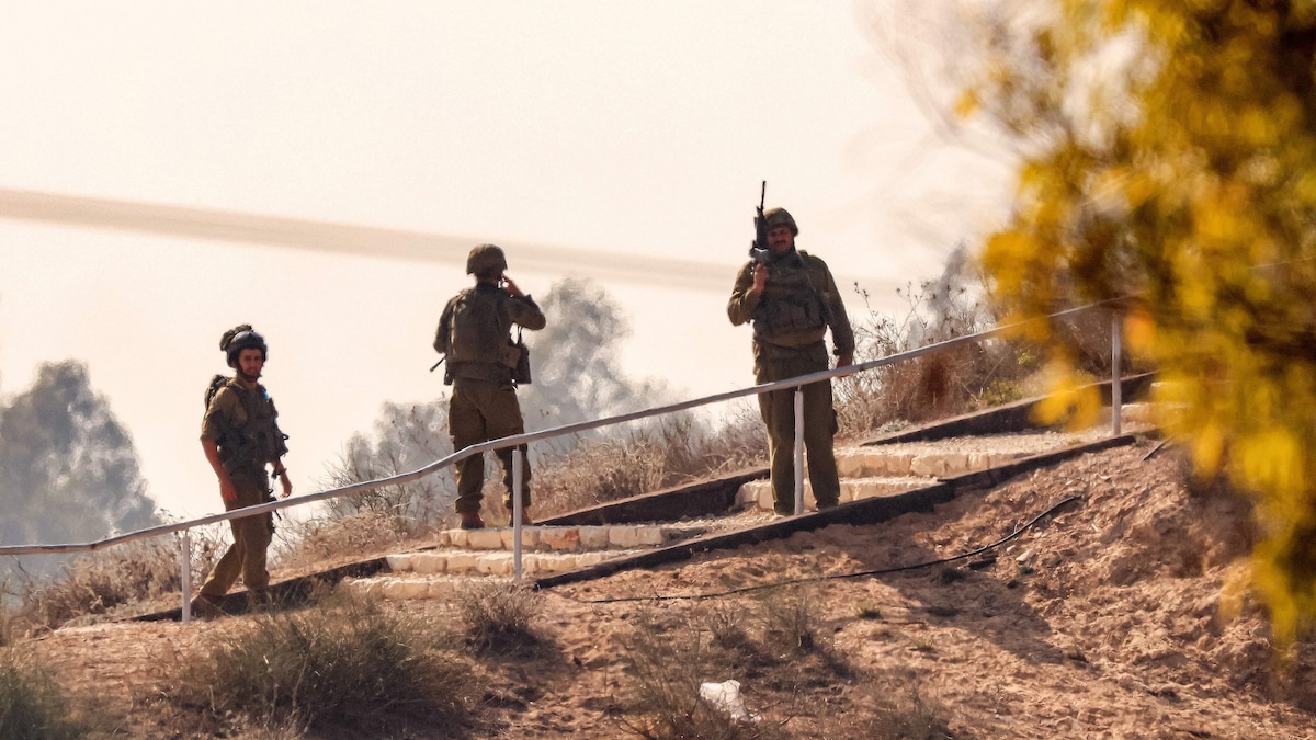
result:
[[(837, 367), (854, 358), (854, 332), (826, 265), (795, 249), (800, 233), (783, 208), (763, 215), (769, 254), (751, 261), (736, 277), (726, 315), (733, 325), (754, 325), (754, 378), (759, 384), (784, 381), (829, 367), (824, 337), (832, 329)], [(795, 390), (759, 394), (771, 457), (772, 506), (776, 514), (795, 511)], [(804, 449), (809, 482), (819, 508), (837, 504), (841, 483), (832, 452), (836, 435), (832, 383), (804, 386)]]

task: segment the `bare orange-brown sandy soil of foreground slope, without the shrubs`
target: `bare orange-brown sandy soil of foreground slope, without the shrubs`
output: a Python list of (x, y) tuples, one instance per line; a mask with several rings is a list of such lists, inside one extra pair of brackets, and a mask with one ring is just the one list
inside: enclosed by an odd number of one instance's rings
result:
[[(1316, 648), (1300, 644), (1280, 665), (1254, 604), (1232, 619), (1220, 611), (1250, 544), (1245, 504), (1187, 491), (1174, 456), (1144, 461), (1152, 449), (1090, 454), (882, 525), (829, 527), (550, 590), (541, 645), (470, 657), (487, 687), (484, 724), (470, 736), (634, 736), (619, 712), (633, 685), (636, 625), (657, 621), (684, 640), (708, 615), (747, 615), (780, 590), (590, 602), (813, 579), (803, 586), (819, 635), (811, 653), (701, 677), (741, 681), (765, 736), (867, 736), (875, 702), (904, 703), (917, 690), (954, 737), (1316, 737)], [(1080, 498), (990, 550), (994, 561), (844, 577), (975, 550), (1070, 496)], [(450, 619), (440, 602), (393, 608)], [(207, 640), (240, 635), (246, 621), (96, 625), (28, 647), (75, 702), (128, 710), (126, 736), (186, 737), (170, 729), (186, 718), (159, 699), (162, 686)], [(791, 672), (800, 681), (783, 682)]]

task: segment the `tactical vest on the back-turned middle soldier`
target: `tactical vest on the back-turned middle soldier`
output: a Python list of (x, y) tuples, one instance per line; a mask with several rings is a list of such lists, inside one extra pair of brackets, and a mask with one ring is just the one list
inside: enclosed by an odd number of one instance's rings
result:
[[(512, 342), (511, 295), (492, 286), (475, 286), (453, 299), (447, 338), (445, 382), (453, 378), (508, 382), (513, 378), (522, 346)], [(528, 381), (528, 378), (526, 378)]]

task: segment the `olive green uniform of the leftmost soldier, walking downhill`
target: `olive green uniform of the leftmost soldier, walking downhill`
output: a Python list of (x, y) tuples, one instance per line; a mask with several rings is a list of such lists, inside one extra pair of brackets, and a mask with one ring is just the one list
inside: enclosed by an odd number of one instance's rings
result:
[[(201, 420), (201, 440), (218, 445), (220, 462), (237, 490), (236, 502), (224, 502), (225, 511), (274, 500), (266, 483), (265, 466), (287, 452), (274, 400), (259, 383), (247, 388), (232, 379), (211, 399)], [(232, 519), (229, 525), (233, 529), (233, 544), (215, 564), (201, 586), (201, 595), (221, 599), (238, 575), (242, 575), (249, 600), (265, 602), (270, 587), (266, 550), (274, 535), (272, 515), (266, 512)]]

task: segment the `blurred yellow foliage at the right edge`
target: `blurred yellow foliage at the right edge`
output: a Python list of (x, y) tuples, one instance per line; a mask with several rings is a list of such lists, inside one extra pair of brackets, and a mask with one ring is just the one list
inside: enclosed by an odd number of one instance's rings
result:
[[(1262, 541), (1229, 587), (1249, 579), (1283, 645), (1316, 618), (1316, 3), (1040, 1), (982, 21), (962, 80), (959, 113), (1020, 145), (982, 255), (995, 298), (1036, 320), (1133, 296), (1167, 429), (1255, 496)], [(1092, 412), (1070, 356), (1049, 419)]]

